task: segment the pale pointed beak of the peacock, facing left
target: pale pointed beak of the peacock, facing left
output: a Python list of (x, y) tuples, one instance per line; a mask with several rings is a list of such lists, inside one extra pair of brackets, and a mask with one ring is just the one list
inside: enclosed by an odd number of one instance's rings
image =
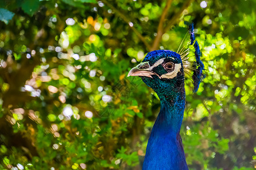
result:
[(139, 63), (139, 65), (137, 65), (136, 67), (133, 67), (133, 69), (131, 69), (128, 73), (127, 76), (147, 76), (152, 78), (151, 75), (157, 75), (159, 77), (158, 74), (154, 73), (151, 68), (150, 65), (147, 62), (142, 62)]

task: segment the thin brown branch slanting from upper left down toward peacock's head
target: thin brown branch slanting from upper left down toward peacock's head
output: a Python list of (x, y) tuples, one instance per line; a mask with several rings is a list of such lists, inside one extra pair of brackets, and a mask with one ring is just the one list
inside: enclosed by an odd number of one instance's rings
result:
[[(105, 3), (106, 6), (110, 7), (117, 15), (120, 16), (120, 18), (122, 18), (127, 24), (131, 24), (133, 22), (131, 22), (131, 19), (127, 18), (127, 16), (125, 16), (122, 12), (120, 12), (117, 8), (115, 8), (113, 5), (111, 5), (108, 1), (106, 0), (101, 0), (101, 2)], [(144, 45), (146, 45), (146, 47), (148, 49), (150, 49), (150, 45), (148, 44), (148, 42), (144, 39), (144, 37), (141, 35), (141, 33), (139, 33), (139, 31), (134, 28), (134, 26), (131, 26), (131, 29), (134, 31), (134, 33), (139, 37), (139, 39), (141, 39), (141, 41), (144, 43)]]

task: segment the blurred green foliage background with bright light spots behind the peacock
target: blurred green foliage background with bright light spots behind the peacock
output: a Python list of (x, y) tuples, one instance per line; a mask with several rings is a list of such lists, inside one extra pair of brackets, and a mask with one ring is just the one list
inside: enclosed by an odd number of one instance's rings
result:
[(141, 169), (158, 96), (127, 73), (195, 23), (189, 169), (255, 168), (256, 1), (2, 0), (0, 169)]

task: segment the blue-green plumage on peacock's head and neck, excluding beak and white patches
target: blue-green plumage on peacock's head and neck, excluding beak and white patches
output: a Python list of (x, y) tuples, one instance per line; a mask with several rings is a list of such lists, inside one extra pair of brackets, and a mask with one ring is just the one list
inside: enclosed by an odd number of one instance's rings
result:
[[(182, 66), (180, 54), (170, 50), (147, 53), (142, 62), (148, 62), (152, 66), (161, 58), (168, 57)], [(159, 65), (152, 70), (159, 75), (166, 74), (161, 67)], [(161, 103), (160, 113), (148, 139), (142, 169), (188, 169), (179, 134), (185, 108), (183, 68), (174, 79), (159, 79), (154, 75), (153, 79), (144, 76), (141, 78), (158, 94)]]

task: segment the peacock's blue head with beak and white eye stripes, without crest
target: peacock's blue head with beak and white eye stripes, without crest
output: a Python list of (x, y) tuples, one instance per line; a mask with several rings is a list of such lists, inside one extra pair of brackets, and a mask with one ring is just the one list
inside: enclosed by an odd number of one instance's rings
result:
[(184, 71), (180, 54), (170, 50), (155, 50), (147, 53), (128, 76), (139, 76), (159, 98), (184, 91)]

